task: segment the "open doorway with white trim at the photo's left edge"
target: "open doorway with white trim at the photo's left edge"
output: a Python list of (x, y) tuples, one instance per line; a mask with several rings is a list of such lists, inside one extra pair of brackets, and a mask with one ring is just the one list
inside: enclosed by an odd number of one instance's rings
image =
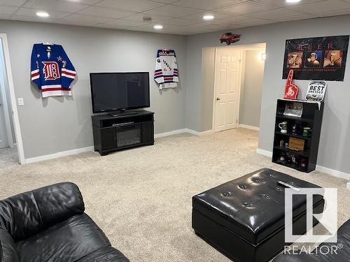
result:
[(0, 168), (24, 163), (6, 34), (0, 34)]

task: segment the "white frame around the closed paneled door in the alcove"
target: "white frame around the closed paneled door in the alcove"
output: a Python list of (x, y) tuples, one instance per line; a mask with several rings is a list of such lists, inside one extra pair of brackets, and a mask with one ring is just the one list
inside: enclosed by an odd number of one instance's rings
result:
[(213, 132), (217, 132), (215, 131), (215, 112), (216, 112), (216, 59), (218, 59), (218, 50), (219, 49), (228, 49), (230, 48), (230, 50), (237, 50), (240, 53), (240, 59), (239, 59), (239, 90), (238, 90), (238, 94), (237, 94), (237, 126), (239, 126), (239, 108), (240, 108), (240, 102), (241, 102), (241, 80), (242, 80), (242, 61), (243, 61), (243, 57), (242, 57), (242, 50), (241, 49), (236, 49), (233, 47), (219, 47), (219, 48), (215, 48), (215, 59), (214, 59), (214, 94), (213, 94), (213, 123), (211, 126), (211, 129), (213, 130)]

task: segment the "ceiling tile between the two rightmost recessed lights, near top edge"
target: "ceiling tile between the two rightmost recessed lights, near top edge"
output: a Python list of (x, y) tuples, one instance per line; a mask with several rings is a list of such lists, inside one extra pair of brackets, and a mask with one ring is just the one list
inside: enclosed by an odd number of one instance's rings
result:
[(272, 10), (272, 9), (276, 9), (276, 6), (268, 6), (268, 5), (263, 5), (260, 3), (248, 1), (244, 3), (239, 3), (237, 5), (233, 5), (233, 6), (218, 8), (217, 11), (222, 13), (247, 15), (250, 13), (258, 13), (258, 12)]

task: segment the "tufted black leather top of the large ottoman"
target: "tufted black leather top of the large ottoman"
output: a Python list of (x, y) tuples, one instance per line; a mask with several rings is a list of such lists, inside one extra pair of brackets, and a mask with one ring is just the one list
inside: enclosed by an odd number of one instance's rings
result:
[[(279, 180), (295, 187), (318, 187), (290, 175), (263, 168), (193, 196), (193, 209), (252, 245), (258, 245), (284, 227), (284, 187), (279, 186)], [(314, 205), (321, 201), (323, 196), (314, 196)], [(293, 217), (299, 216), (305, 210), (306, 197), (293, 197)]]

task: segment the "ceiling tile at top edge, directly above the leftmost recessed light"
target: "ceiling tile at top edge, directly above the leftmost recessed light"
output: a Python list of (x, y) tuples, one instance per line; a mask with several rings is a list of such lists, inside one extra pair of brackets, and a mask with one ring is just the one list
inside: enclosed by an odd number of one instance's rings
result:
[(53, 10), (66, 13), (76, 13), (87, 6), (76, 3), (57, 0), (38, 0), (34, 2), (25, 3), (24, 7), (36, 8), (38, 10)]

